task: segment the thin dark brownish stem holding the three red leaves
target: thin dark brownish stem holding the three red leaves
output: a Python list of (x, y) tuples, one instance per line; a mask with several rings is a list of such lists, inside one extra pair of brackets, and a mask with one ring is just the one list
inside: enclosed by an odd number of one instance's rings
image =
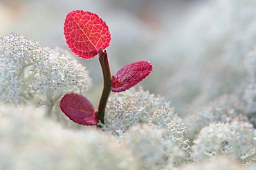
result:
[(104, 50), (104, 52), (102, 49), (99, 50), (99, 61), (104, 78), (104, 87), (102, 90), (102, 95), (98, 106), (97, 116), (100, 122), (104, 123), (104, 113), (107, 105), (107, 98), (109, 98), (109, 93), (111, 92), (111, 73), (109, 68), (109, 59), (107, 57), (106, 50)]

